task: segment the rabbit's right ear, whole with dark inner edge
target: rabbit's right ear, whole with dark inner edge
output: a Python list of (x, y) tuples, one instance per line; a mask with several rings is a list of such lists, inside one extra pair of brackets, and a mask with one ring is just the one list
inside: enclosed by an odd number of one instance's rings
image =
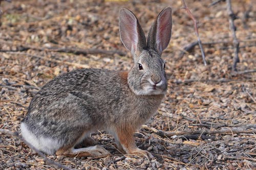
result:
[(168, 46), (172, 34), (172, 8), (163, 9), (156, 18), (147, 37), (147, 47), (153, 48), (160, 55)]

